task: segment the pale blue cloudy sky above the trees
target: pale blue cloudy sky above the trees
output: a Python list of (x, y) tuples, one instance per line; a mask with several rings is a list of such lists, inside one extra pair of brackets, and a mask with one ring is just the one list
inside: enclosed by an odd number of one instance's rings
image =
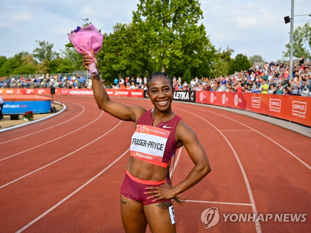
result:
[[(36, 40), (53, 43), (60, 52), (68, 43), (67, 33), (89, 21), (102, 32), (112, 32), (116, 23), (132, 21), (132, 11), (138, 0), (1, 0), (0, 56), (12, 57), (21, 51), (38, 47)], [(291, 14), (291, 0), (230, 1), (199, 0), (203, 10), (201, 23), (216, 49), (229, 46), (234, 56), (242, 53), (248, 57), (261, 55), (266, 61), (282, 58), (285, 39), (289, 37), (290, 24), (284, 17)], [(311, 13), (310, 0), (295, 0), (295, 15)], [(297, 16), (294, 29), (304, 25), (309, 16)]]

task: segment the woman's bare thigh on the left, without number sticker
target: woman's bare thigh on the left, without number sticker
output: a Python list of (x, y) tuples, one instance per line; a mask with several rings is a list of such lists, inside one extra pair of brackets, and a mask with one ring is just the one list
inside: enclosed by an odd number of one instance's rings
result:
[(146, 232), (147, 220), (142, 203), (124, 197), (121, 194), (121, 218), (126, 233)]

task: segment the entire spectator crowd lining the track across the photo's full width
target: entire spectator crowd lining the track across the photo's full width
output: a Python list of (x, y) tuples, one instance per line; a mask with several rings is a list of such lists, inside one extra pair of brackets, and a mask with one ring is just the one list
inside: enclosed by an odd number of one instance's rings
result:
[[(179, 76), (173, 77), (176, 90), (208, 90), (226, 92), (253, 92), (262, 94), (311, 95), (311, 63), (304, 62), (303, 57), (293, 67), (293, 78), (289, 79), (289, 65), (280, 62), (266, 62), (263, 66), (256, 64), (248, 70), (236, 71), (232, 75), (219, 77), (198, 77), (190, 82)], [(114, 78), (113, 84), (105, 85), (107, 89), (143, 89), (146, 90), (147, 77)], [(39, 75), (11, 78), (2, 83), (1, 88), (91, 88), (82, 75)]]

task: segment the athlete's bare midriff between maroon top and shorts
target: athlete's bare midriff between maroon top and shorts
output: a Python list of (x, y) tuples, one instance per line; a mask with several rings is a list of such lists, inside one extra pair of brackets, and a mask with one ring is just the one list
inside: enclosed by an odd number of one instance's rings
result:
[(160, 181), (164, 180), (167, 175), (166, 167), (160, 167), (137, 159), (133, 156), (130, 156), (126, 169), (132, 176), (135, 176), (141, 180)]

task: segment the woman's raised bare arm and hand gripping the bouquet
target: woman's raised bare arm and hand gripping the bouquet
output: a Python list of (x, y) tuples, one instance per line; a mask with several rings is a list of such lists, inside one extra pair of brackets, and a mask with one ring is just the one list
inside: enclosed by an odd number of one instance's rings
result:
[[(82, 65), (86, 68), (86, 70), (89, 70), (89, 65), (91, 65), (91, 63), (94, 61), (98, 71), (98, 63), (95, 54), (93, 53), (93, 49), (91, 52), (92, 54), (87, 54), (86, 52), (81, 53), (83, 57)], [(109, 113), (111, 116), (114, 116), (123, 121), (136, 122), (138, 118), (147, 111), (145, 108), (140, 106), (126, 106), (124, 104), (112, 101), (104, 89), (99, 74), (92, 76), (91, 79), (93, 94), (98, 107)]]

